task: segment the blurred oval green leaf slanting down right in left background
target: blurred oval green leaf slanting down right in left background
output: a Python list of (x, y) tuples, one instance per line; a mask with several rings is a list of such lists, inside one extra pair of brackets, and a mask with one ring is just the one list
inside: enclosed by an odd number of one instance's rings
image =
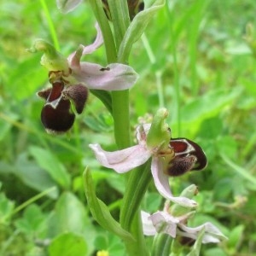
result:
[(65, 166), (58, 160), (54, 154), (44, 148), (32, 146), (29, 148), (30, 154), (37, 160), (38, 165), (49, 173), (56, 183), (60, 184), (62, 188), (68, 189), (70, 187), (71, 178)]

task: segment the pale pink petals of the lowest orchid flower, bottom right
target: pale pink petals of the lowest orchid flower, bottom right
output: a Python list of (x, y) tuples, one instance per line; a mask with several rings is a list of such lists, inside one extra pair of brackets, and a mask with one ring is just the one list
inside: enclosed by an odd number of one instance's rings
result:
[(226, 239), (226, 236), (224, 236), (222, 232), (210, 222), (201, 224), (195, 228), (186, 226), (184, 223), (186, 223), (187, 219), (192, 214), (193, 212), (188, 212), (182, 216), (176, 217), (172, 216), (166, 209), (164, 209), (164, 211), (155, 212), (154, 214), (142, 211), (143, 233), (146, 236), (165, 233), (173, 238), (176, 236), (184, 236), (196, 240), (200, 231), (204, 229), (205, 233), (202, 243), (219, 242)]

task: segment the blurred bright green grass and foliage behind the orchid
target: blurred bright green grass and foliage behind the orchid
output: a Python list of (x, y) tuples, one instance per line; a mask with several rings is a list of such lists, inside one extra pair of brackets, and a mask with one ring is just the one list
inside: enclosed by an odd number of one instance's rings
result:
[[(256, 26), (255, 2), (166, 2), (133, 46), (140, 79), (131, 89), (131, 124), (169, 109), (173, 137), (195, 140), (209, 160), (203, 172), (170, 179), (173, 193), (195, 183), (200, 207), (191, 225), (209, 220), (230, 238), (203, 246), (202, 255), (254, 255), (256, 60), (243, 37), (247, 23)], [(67, 15), (55, 1), (47, 5), (63, 55), (94, 40), (86, 3)], [(115, 148), (111, 115), (90, 94), (72, 131), (46, 134), (36, 92), (49, 86), (48, 76), (41, 56), (26, 52), (35, 38), (52, 41), (46, 13), (38, 0), (1, 1), (0, 9), (0, 255), (123, 255), (119, 239), (91, 218), (82, 178), (90, 166), (97, 196), (118, 218), (123, 177), (100, 167), (88, 148)], [(104, 49), (86, 61), (105, 65)], [(162, 206), (150, 187), (143, 209)]]

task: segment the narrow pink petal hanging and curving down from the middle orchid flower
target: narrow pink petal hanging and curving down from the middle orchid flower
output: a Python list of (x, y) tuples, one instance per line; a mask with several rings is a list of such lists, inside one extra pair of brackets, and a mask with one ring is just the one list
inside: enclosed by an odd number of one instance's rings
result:
[(164, 160), (160, 157), (153, 157), (151, 164), (154, 185), (159, 191), (160, 195), (183, 207), (196, 207), (197, 203), (194, 200), (190, 200), (189, 198), (183, 196), (175, 197), (172, 195), (169, 185), (169, 176), (167, 176), (164, 172), (163, 161)]

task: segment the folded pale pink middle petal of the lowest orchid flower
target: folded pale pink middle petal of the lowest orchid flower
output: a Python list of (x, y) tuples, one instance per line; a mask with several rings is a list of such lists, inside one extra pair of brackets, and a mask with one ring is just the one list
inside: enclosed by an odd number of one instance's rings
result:
[(168, 212), (155, 212), (149, 217), (158, 233), (166, 233), (173, 238), (176, 237), (177, 224), (179, 219), (173, 217)]

